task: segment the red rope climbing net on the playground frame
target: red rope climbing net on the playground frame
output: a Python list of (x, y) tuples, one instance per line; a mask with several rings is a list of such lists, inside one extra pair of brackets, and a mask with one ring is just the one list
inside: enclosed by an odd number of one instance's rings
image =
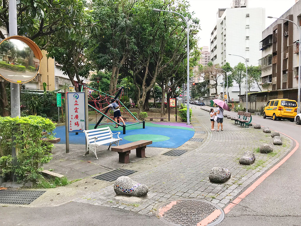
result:
[[(117, 92), (119, 91), (119, 89), (114, 89), (112, 90), (112, 94), (107, 94), (104, 92), (100, 92), (97, 90), (92, 90), (88, 88), (88, 105), (96, 108), (98, 111), (101, 111), (104, 115), (107, 115), (110, 119), (108, 119), (107, 117), (104, 117), (102, 119), (102, 121), (100, 122), (100, 124), (98, 126), (101, 125), (105, 125), (105, 124), (110, 124), (113, 125), (115, 124), (112, 120), (114, 120), (114, 114), (113, 114), (113, 110), (112, 108), (110, 108), (109, 111), (107, 111), (107, 113), (105, 113), (105, 111), (102, 111), (102, 109), (104, 107), (107, 107), (110, 103), (111, 103), (111, 99), (113, 99), (114, 96), (116, 96)], [(119, 110), (121, 111), (121, 115), (122, 118), (124, 120), (124, 122), (138, 122), (137, 119), (135, 119), (135, 117), (132, 115), (132, 113), (124, 106), (124, 104), (122, 103), (122, 101), (124, 100), (124, 91), (122, 90), (119, 98), (117, 98), (116, 103), (119, 105)], [(96, 114), (96, 123), (98, 121), (97, 119), (97, 115), (100, 115), (100, 117), (102, 116), (98, 111), (95, 111)], [(119, 119), (118, 121), (119, 122)], [(121, 122), (122, 124), (122, 122)]]

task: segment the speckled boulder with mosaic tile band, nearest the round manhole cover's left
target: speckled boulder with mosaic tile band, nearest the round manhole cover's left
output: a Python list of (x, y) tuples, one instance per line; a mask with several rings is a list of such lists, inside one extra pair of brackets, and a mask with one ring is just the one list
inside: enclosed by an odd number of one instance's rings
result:
[(139, 184), (129, 177), (118, 177), (114, 183), (114, 191), (117, 195), (144, 196), (148, 192), (145, 184)]

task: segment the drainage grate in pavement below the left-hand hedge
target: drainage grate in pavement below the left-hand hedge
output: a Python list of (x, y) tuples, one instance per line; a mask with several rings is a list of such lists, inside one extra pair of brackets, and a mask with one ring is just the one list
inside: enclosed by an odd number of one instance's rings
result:
[(0, 190), (1, 204), (28, 205), (45, 191)]

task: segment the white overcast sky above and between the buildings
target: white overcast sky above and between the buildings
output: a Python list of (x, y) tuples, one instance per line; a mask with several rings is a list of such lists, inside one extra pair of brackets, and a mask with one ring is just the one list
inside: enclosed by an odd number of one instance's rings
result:
[[(232, 0), (188, 0), (190, 11), (200, 19), (199, 46), (209, 46), (210, 36), (216, 25), (216, 12), (219, 8), (230, 8)], [(249, 8), (265, 8), (265, 16), (280, 17), (295, 4), (295, 0), (249, 0)], [(265, 27), (275, 19), (266, 18)]]

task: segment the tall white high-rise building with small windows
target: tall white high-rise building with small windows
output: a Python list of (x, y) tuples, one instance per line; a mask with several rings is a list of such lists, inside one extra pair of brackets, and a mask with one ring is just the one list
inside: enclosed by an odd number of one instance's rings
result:
[[(239, 62), (245, 63), (241, 57), (228, 55), (235, 54), (246, 58), (248, 66), (257, 66), (258, 59), (261, 58), (258, 42), (265, 29), (265, 9), (248, 8), (247, 0), (233, 0), (231, 7), (217, 12), (216, 26), (210, 38), (210, 60), (220, 66), (229, 62), (231, 67)], [(245, 92), (245, 83), (243, 86), (241, 94)], [(254, 86), (250, 91), (257, 92), (259, 88)], [(233, 87), (229, 88), (229, 96), (231, 99), (238, 99), (238, 95), (238, 84), (234, 82)]]

